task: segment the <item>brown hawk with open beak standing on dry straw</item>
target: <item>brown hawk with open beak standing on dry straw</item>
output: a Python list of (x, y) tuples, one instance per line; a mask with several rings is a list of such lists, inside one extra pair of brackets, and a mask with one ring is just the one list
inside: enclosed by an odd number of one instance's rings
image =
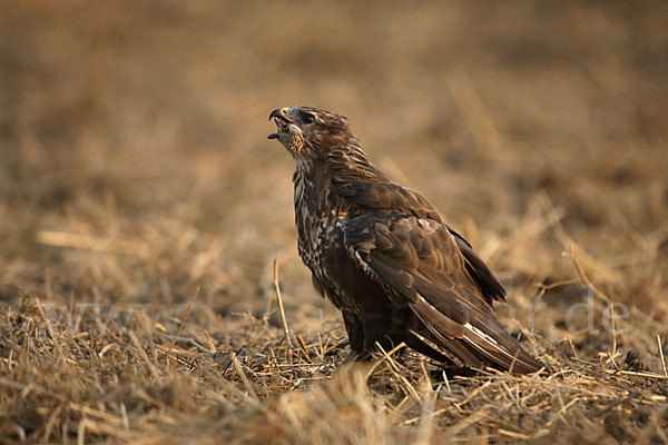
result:
[(286, 107), (271, 119), (296, 165), (298, 253), (343, 314), (346, 362), (404, 342), (448, 366), (541, 369), (494, 316), (501, 283), (429, 200), (367, 159), (345, 117)]

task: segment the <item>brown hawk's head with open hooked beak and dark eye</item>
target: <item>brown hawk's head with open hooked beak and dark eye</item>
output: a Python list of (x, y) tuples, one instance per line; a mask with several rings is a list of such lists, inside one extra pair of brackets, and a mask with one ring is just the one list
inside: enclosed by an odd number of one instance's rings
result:
[(295, 159), (320, 158), (353, 139), (345, 117), (313, 107), (277, 108), (271, 119), (277, 131), (269, 139), (278, 139)]

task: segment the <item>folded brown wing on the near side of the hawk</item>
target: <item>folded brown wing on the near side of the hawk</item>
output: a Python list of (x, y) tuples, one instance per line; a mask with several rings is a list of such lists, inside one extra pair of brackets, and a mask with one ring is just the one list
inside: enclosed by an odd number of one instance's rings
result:
[(348, 221), (345, 234), (350, 255), (397, 305), (407, 303), (438, 346), (471, 366), (487, 362), (518, 373), (539, 370), (541, 365), (497, 320), (474, 271), (497, 279), (458, 239), (463, 240), (440, 220), (397, 210), (367, 210)]

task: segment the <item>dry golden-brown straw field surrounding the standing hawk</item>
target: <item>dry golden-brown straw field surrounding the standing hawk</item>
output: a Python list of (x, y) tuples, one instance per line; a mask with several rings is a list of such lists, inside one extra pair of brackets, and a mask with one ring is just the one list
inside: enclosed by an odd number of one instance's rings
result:
[[(668, 443), (667, 22), (665, 1), (2, 2), (0, 442)], [(295, 105), (347, 116), (469, 238), (553, 375), (396, 350), (335, 373), (345, 330), (266, 139)]]

